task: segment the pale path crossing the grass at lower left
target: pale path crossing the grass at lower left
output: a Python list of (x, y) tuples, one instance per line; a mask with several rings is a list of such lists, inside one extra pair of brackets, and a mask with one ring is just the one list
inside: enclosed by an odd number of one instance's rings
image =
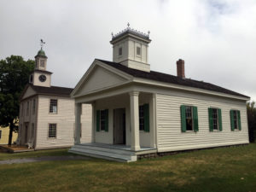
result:
[(44, 156), (35, 158), (22, 158), (14, 160), (0, 160), (0, 165), (4, 164), (20, 164), (20, 163), (32, 163), (40, 161), (51, 161), (51, 160), (90, 160), (89, 157), (85, 156)]

